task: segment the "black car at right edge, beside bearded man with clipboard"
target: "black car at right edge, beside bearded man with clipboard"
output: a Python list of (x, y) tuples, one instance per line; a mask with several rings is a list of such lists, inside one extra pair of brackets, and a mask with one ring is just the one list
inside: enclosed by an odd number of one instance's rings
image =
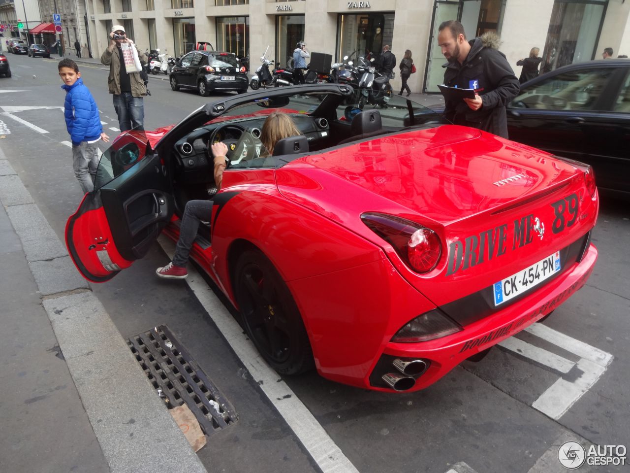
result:
[(507, 107), (510, 139), (590, 164), (600, 190), (630, 197), (630, 59), (560, 67)]

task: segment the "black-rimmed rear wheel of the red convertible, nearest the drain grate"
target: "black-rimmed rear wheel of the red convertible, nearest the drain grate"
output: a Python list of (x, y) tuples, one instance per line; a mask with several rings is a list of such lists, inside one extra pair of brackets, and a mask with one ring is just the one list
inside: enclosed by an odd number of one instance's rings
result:
[(314, 361), (304, 322), (272, 262), (258, 250), (246, 250), (234, 275), (245, 330), (263, 358), (282, 375), (310, 370)]

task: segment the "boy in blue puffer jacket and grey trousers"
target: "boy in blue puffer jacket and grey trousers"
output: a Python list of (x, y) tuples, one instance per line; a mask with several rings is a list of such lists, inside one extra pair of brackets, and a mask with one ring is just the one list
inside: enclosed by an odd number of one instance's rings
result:
[(98, 146), (101, 139), (109, 137), (103, 132), (98, 107), (91, 93), (83, 85), (79, 66), (71, 59), (59, 61), (59, 76), (66, 91), (64, 115), (66, 128), (72, 139), (72, 168), (81, 190), (92, 192), (98, 168)]

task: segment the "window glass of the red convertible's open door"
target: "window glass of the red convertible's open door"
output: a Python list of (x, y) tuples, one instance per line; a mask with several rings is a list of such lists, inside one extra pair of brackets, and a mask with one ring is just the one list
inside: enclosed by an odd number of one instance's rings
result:
[(96, 169), (94, 189), (100, 189), (139, 163), (144, 158), (147, 148), (149, 140), (144, 131), (134, 129), (118, 135), (110, 147), (103, 151)]

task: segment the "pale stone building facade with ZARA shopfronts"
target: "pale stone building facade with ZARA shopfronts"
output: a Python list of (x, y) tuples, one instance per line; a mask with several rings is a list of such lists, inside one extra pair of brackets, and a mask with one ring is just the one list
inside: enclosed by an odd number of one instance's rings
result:
[[(50, 1), (50, 0), (42, 0)], [(76, 0), (79, 3), (82, 0)], [(390, 45), (398, 61), (410, 49), (417, 73), (413, 91), (437, 92), (444, 57), (437, 28), (444, 20), (462, 22), (473, 38), (494, 30), (515, 73), (518, 59), (539, 47), (541, 71), (600, 57), (605, 47), (630, 54), (630, 2), (624, 0), (86, 0), (94, 54), (108, 45), (112, 25), (125, 26), (142, 49), (175, 56), (199, 41), (215, 49), (286, 64), (295, 43), (311, 52), (379, 55)], [(398, 76), (393, 79), (399, 85)]]

